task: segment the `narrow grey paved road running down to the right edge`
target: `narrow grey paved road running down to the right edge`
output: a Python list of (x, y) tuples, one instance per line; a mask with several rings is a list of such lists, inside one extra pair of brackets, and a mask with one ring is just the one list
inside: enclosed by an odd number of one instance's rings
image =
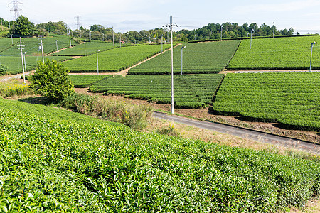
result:
[(262, 133), (260, 131), (254, 131), (249, 129), (242, 129), (240, 127), (229, 126), (225, 124), (218, 124), (208, 121), (196, 121), (193, 119), (186, 119), (180, 116), (171, 116), (161, 112), (154, 112), (153, 116), (158, 119), (165, 119), (169, 121), (174, 121), (180, 124), (186, 124), (188, 126), (195, 126), (201, 129), (208, 129), (212, 131), (217, 131), (220, 133), (227, 133), (232, 136), (238, 136), (240, 138), (247, 138), (252, 141), (258, 141), (262, 143), (270, 143), (277, 146), (284, 146), (287, 148), (296, 148), (301, 151), (307, 151), (309, 153), (314, 153), (320, 155), (320, 145), (316, 143), (311, 143), (308, 141), (301, 141), (293, 138), (286, 138), (282, 136), (275, 136), (269, 133)]

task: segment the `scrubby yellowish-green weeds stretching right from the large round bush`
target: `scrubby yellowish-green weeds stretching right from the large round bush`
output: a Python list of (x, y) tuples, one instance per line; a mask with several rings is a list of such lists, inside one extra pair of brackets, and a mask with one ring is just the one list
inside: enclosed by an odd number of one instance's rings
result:
[(146, 105), (129, 105), (87, 94), (72, 94), (63, 101), (68, 109), (100, 119), (122, 123), (133, 129), (144, 129), (152, 109)]

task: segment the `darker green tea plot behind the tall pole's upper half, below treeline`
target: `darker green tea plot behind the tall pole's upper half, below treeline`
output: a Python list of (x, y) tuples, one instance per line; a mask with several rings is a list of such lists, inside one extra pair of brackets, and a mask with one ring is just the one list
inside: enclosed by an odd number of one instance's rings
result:
[[(218, 73), (222, 71), (237, 50), (239, 40), (210, 43), (188, 43), (183, 48), (183, 74)], [(174, 48), (174, 73), (181, 74), (181, 45)], [(129, 74), (170, 74), (171, 53), (157, 56), (133, 67)]]

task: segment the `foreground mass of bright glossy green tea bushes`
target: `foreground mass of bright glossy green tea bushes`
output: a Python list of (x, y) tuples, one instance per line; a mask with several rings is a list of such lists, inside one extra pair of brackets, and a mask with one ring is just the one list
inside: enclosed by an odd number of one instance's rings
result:
[(316, 162), (83, 118), (0, 99), (3, 209), (277, 212), (320, 194)]

